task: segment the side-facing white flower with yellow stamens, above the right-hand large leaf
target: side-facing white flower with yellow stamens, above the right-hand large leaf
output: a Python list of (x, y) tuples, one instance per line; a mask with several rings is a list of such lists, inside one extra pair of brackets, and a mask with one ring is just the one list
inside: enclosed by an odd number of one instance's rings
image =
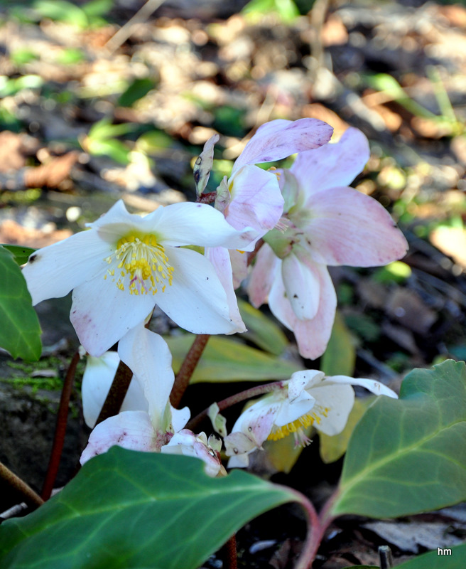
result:
[(265, 440), (279, 440), (291, 433), (296, 445), (308, 445), (305, 428), (310, 425), (325, 435), (342, 432), (354, 405), (352, 385), (360, 385), (376, 395), (397, 397), (386, 385), (372, 379), (297, 371), (283, 389), (265, 395), (239, 416), (224, 439), (231, 457), (228, 466), (246, 467), (248, 454), (260, 449)]

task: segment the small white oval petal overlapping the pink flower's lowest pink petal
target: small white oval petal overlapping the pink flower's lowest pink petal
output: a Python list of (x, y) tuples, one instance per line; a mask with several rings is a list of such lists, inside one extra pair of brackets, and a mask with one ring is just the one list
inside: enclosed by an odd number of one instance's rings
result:
[(296, 255), (286, 255), (281, 264), (286, 296), (299, 320), (315, 317), (319, 309), (320, 274), (316, 266), (307, 266)]

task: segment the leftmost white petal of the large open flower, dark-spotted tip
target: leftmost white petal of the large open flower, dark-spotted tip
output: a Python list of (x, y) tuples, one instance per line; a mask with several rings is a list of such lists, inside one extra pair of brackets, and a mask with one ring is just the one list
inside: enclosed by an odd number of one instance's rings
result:
[(109, 245), (95, 231), (82, 231), (34, 252), (23, 267), (33, 304), (64, 297), (82, 282), (105, 270)]

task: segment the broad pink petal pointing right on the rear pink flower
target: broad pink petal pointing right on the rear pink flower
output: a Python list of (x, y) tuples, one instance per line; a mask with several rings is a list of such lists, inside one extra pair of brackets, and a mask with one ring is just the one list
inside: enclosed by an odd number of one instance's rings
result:
[(408, 248), (388, 211), (353, 188), (315, 193), (310, 216), (305, 235), (313, 260), (325, 265), (386, 265), (401, 259)]

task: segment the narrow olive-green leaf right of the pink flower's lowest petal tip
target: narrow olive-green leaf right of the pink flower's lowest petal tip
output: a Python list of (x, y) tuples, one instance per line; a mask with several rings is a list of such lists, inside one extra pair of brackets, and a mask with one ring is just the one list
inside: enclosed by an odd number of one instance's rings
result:
[(335, 314), (332, 336), (320, 360), (320, 369), (326, 376), (350, 376), (354, 372), (356, 350), (353, 339), (339, 312)]

